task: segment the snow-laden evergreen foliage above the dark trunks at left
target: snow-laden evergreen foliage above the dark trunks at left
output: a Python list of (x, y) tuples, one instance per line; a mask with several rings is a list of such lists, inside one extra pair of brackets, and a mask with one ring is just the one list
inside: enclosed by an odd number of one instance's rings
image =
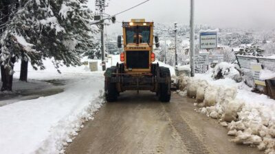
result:
[[(80, 65), (80, 53), (93, 46), (93, 16), (87, 0), (21, 0), (0, 36), (0, 61), (12, 73), (10, 58), (30, 60), (44, 69), (48, 57), (58, 69)], [(59, 70), (58, 70), (59, 71)]]

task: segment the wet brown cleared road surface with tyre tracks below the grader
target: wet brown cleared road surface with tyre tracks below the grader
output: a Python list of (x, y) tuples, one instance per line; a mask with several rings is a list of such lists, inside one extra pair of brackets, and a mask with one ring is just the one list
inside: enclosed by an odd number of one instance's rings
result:
[(226, 129), (197, 114), (192, 102), (177, 94), (160, 103), (151, 92), (122, 93), (85, 123), (65, 153), (260, 153), (229, 142)]

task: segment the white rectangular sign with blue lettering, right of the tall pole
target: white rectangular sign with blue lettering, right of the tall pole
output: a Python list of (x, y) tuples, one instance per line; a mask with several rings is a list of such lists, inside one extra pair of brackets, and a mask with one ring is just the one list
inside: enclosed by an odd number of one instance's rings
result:
[(199, 34), (200, 49), (216, 49), (217, 48), (217, 32), (201, 32)]

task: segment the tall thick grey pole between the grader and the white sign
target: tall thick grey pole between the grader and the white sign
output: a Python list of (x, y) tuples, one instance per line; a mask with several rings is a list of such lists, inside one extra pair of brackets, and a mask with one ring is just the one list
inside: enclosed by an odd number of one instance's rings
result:
[(194, 0), (190, 0), (190, 76), (195, 76), (195, 28), (194, 28)]

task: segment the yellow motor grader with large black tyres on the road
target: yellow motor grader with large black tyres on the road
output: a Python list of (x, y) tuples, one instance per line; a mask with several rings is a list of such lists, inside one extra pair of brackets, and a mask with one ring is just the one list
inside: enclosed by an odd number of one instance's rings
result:
[[(159, 101), (170, 101), (170, 70), (153, 64), (153, 22), (132, 19), (123, 22), (123, 36), (118, 36), (118, 47), (122, 44), (121, 63), (107, 68), (105, 77), (105, 97), (108, 102), (116, 101), (120, 92), (126, 90), (150, 90), (156, 92)], [(123, 43), (121, 42), (123, 37)], [(155, 36), (155, 45), (159, 46)]]

